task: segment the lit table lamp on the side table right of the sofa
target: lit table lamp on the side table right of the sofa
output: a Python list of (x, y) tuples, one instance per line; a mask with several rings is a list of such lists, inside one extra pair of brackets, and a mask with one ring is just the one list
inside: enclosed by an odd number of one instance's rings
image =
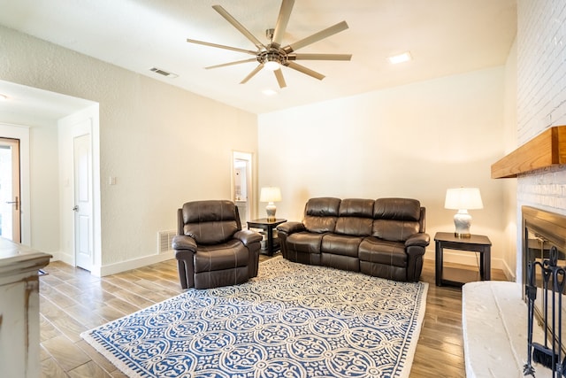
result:
[(470, 237), (471, 215), (468, 210), (483, 209), (478, 188), (455, 188), (446, 190), (446, 209), (457, 210), (454, 215), (456, 237)]

